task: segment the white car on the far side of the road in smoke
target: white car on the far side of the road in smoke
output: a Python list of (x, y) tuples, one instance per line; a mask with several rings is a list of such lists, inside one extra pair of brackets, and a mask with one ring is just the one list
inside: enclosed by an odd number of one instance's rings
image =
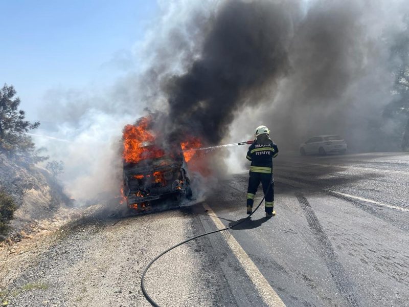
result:
[(312, 137), (300, 145), (302, 156), (308, 153), (319, 153), (324, 156), (327, 152), (345, 153), (347, 152), (347, 142), (337, 135), (324, 135)]

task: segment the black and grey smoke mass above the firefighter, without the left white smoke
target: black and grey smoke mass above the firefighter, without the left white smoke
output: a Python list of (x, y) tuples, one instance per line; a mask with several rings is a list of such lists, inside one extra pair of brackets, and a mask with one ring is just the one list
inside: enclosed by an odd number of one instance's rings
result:
[(167, 130), (217, 144), (232, 125), (248, 135), (265, 124), (292, 148), (312, 135), (341, 134), (360, 149), (380, 150), (393, 130), (381, 119), (393, 83), (385, 29), (399, 27), (402, 4), (222, 2), (207, 23), (197, 19), (198, 56), (162, 82)]

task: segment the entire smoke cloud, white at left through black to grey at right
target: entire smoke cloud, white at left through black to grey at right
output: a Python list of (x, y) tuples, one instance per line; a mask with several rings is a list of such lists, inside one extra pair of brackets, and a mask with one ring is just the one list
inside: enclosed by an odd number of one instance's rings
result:
[[(122, 127), (145, 107), (165, 113), (158, 130), (178, 141), (190, 134), (233, 143), (264, 124), (282, 153), (319, 134), (340, 134), (361, 150), (399, 150), (404, 126), (382, 112), (392, 100), (390, 48), (407, 30), (406, 0), (159, 3), (135, 48), (137, 72), (102, 92), (48, 93), (39, 134), (67, 142), (38, 145), (64, 161), (74, 198), (117, 189)], [(229, 165), (246, 161), (240, 150)]]

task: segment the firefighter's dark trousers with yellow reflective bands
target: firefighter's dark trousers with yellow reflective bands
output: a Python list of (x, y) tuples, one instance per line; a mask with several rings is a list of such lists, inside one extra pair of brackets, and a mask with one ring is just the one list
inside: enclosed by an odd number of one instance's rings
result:
[[(254, 196), (256, 195), (260, 182), (265, 195), (265, 212), (271, 213), (274, 207), (274, 179), (272, 178), (271, 173), (250, 171), (247, 188), (247, 206), (253, 207)], [(268, 185), (270, 185), (270, 187), (268, 187)]]

